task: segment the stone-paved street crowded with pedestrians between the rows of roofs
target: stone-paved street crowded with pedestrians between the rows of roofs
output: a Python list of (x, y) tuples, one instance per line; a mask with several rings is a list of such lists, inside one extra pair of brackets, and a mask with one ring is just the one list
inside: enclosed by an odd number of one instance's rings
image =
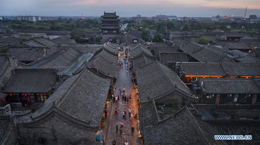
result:
[[(118, 57), (119, 61), (123, 62), (123, 57)], [(131, 108), (133, 116), (135, 113), (137, 113), (136, 108), (136, 99), (134, 90), (133, 90), (133, 84), (131, 82), (131, 71), (126, 73), (127, 65), (125, 64), (121, 67), (118, 66), (117, 76), (116, 76), (116, 95), (120, 96), (120, 90), (119, 87), (123, 88), (125, 87), (125, 95), (129, 96), (131, 94), (132, 98), (129, 104), (127, 102), (122, 101), (120, 97), (120, 101), (118, 104), (113, 103), (111, 100), (109, 103), (112, 104), (111, 111), (109, 111), (109, 114), (107, 115), (106, 123), (108, 124), (107, 130), (106, 128), (103, 129), (104, 131), (104, 137), (107, 145), (112, 144), (113, 140), (116, 140), (117, 145), (123, 144), (122, 139), (118, 130), (118, 134), (116, 134), (116, 125), (118, 125), (118, 129), (120, 129), (120, 122), (123, 121), (123, 133), (125, 133), (126, 140), (129, 142), (129, 145), (139, 145), (140, 139), (138, 137), (138, 130), (137, 130), (137, 120), (136, 119), (130, 119), (128, 115), (128, 109)], [(118, 116), (115, 115), (115, 109), (118, 107)], [(110, 108), (110, 107), (109, 107)], [(126, 109), (126, 119), (122, 119), (123, 117), (123, 110)], [(135, 132), (133, 135), (131, 135), (131, 127), (132, 125), (135, 127)], [(107, 125), (106, 125), (107, 126)], [(107, 132), (107, 133), (106, 133)], [(106, 134), (105, 134), (106, 133)]]

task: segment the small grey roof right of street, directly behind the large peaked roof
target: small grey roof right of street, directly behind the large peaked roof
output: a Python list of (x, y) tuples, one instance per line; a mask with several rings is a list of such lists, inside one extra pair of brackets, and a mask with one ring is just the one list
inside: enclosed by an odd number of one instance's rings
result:
[(153, 62), (155, 59), (150, 57), (150, 56), (146, 56), (144, 53), (143, 55), (139, 55), (138, 57), (135, 57), (134, 59), (132, 59), (133, 61), (133, 69), (137, 69), (141, 66), (147, 65), (151, 62)]

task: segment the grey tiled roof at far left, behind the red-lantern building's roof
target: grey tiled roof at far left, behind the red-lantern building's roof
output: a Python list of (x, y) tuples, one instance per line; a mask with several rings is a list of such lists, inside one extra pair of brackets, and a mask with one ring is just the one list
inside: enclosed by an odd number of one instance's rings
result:
[(44, 54), (41, 47), (11, 47), (8, 52), (18, 61), (36, 61)]

